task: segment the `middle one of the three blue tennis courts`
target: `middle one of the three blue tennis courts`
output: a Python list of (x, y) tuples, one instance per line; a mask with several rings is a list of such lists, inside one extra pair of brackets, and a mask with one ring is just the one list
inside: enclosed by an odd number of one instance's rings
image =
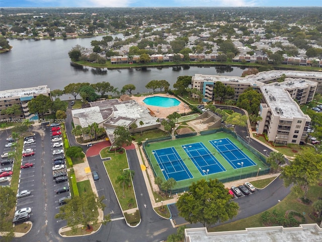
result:
[(202, 142), (182, 145), (182, 148), (202, 175), (226, 171)]

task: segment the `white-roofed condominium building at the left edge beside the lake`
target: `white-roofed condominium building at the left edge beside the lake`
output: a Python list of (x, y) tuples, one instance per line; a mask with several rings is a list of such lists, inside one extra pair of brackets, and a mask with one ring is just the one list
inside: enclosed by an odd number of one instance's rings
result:
[[(37, 113), (29, 112), (28, 102), (38, 95), (50, 96), (50, 89), (47, 86), (20, 88), (0, 91), (0, 122), (9, 122), (14, 119), (38, 119)], [(1, 111), (17, 104), (21, 108), (18, 114), (1, 114)]]

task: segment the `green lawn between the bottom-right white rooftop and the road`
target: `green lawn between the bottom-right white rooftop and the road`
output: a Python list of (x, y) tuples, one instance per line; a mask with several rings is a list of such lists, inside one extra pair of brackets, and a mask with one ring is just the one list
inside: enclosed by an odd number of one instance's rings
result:
[[(322, 196), (322, 189), (319, 186), (311, 186), (308, 190), (308, 198), (311, 201), (316, 201), (318, 197)], [(313, 212), (312, 205), (305, 205), (300, 202), (298, 196), (291, 192), (285, 199), (283, 199), (276, 206), (270, 208), (268, 211), (272, 211), (273, 209), (277, 209), (285, 213), (286, 211), (293, 210), (298, 213), (304, 215), (306, 222), (305, 223), (316, 223), (313, 221), (309, 214)], [(220, 226), (212, 227), (208, 230), (208, 232), (216, 232), (216, 231), (231, 231), (231, 230), (243, 230), (245, 228), (250, 227), (263, 227), (265, 226), (262, 223), (260, 214), (256, 214), (254, 216), (240, 219), (231, 223), (223, 224)]]

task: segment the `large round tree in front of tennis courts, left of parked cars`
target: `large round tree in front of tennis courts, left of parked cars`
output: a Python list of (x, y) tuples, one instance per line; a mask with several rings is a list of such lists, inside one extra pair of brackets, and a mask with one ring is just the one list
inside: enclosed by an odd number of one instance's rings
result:
[(180, 216), (190, 223), (200, 222), (208, 229), (238, 214), (238, 204), (230, 199), (220, 181), (201, 179), (189, 187), (189, 192), (179, 197), (176, 205)]

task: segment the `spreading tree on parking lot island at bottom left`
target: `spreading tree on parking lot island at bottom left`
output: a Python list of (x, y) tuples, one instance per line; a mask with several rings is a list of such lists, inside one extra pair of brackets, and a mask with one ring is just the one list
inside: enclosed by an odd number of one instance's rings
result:
[[(67, 226), (76, 229), (78, 224), (86, 226), (88, 229), (98, 223), (97, 211), (104, 211), (106, 205), (103, 203), (104, 196), (98, 197), (93, 192), (86, 192), (81, 197), (74, 196), (67, 201), (65, 206), (61, 206), (56, 218), (65, 219)], [(110, 215), (106, 215), (103, 224), (110, 221)]]

